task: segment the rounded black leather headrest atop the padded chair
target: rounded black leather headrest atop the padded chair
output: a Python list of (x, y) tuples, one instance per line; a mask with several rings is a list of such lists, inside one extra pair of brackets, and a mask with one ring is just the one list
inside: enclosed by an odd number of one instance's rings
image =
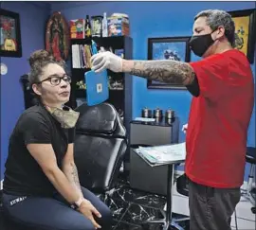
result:
[(114, 106), (102, 103), (88, 106), (83, 103), (76, 108), (80, 113), (76, 130), (84, 133), (114, 133), (118, 125), (118, 114)]

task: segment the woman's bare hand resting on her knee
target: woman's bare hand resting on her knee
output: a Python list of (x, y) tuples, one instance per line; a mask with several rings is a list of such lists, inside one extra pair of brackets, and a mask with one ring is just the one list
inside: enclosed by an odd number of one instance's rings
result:
[(99, 225), (93, 217), (93, 214), (95, 214), (98, 218), (101, 218), (101, 213), (95, 208), (92, 203), (84, 199), (78, 210), (82, 213), (84, 217), (92, 221), (95, 229), (101, 228), (101, 225)]

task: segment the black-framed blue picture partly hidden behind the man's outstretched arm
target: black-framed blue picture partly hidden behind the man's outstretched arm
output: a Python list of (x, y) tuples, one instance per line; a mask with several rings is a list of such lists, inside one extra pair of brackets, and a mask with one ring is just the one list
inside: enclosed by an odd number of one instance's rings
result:
[[(190, 39), (191, 37), (149, 38), (148, 60), (190, 62)], [(181, 84), (163, 83), (156, 80), (148, 80), (147, 87), (149, 89), (187, 89)]]

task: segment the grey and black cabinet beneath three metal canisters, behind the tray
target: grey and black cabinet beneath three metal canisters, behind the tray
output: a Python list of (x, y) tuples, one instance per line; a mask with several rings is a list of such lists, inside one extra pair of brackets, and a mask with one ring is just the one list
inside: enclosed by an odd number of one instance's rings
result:
[(130, 155), (129, 159), (125, 159), (124, 164), (126, 170), (130, 170), (130, 186), (132, 188), (166, 196), (168, 166), (150, 167), (134, 149), (137, 149), (138, 146), (178, 143), (178, 133), (178, 117), (175, 117), (171, 123), (167, 123), (165, 120), (161, 122), (131, 122)]

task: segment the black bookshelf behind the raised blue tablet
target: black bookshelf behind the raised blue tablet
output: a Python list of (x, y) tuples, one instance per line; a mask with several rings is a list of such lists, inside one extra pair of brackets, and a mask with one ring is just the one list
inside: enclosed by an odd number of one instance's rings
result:
[[(69, 106), (76, 108), (78, 106), (77, 100), (82, 98), (86, 101), (86, 89), (79, 89), (77, 85), (78, 81), (84, 82), (84, 74), (89, 71), (90, 68), (74, 68), (73, 64), (73, 44), (91, 44), (92, 40), (97, 44), (98, 47), (104, 47), (109, 50), (112, 48), (115, 50), (123, 49), (123, 58), (131, 60), (133, 59), (133, 40), (127, 36), (116, 36), (116, 37), (93, 37), (85, 39), (72, 39), (71, 40), (71, 97)], [(106, 101), (115, 106), (119, 115), (123, 119), (125, 128), (129, 133), (129, 122), (132, 120), (132, 76), (125, 73), (114, 73), (108, 70), (109, 76), (109, 99)], [(84, 82), (86, 84), (86, 82)]]

